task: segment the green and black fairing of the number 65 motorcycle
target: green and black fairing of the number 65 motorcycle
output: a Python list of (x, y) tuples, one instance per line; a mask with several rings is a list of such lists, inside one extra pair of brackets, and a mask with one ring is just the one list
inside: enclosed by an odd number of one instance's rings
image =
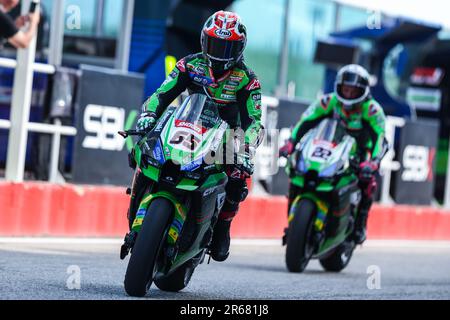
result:
[(178, 108), (169, 107), (154, 129), (134, 148), (134, 160), (152, 181), (143, 196), (132, 230), (139, 232), (152, 201), (168, 199), (174, 208), (166, 263), (167, 275), (204, 250), (225, 199), (228, 177), (215, 153), (223, 146), (228, 125), (205, 95), (194, 94)]

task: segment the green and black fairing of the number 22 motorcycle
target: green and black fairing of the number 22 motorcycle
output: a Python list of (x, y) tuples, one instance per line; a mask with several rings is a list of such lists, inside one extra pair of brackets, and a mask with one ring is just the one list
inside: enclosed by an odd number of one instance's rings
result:
[(288, 159), (286, 172), (296, 197), (289, 223), (302, 199), (315, 204), (314, 231), (319, 239), (313, 257), (320, 257), (352, 233), (360, 191), (354, 165), (357, 144), (336, 119), (325, 119), (310, 130)]

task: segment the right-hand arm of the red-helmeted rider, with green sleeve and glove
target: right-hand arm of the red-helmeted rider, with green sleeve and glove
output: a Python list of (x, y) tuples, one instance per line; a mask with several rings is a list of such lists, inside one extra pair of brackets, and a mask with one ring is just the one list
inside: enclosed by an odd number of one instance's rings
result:
[(253, 73), (250, 75), (249, 83), (238, 92), (241, 128), (245, 133), (245, 145), (256, 148), (262, 142), (261, 124), (261, 85)]

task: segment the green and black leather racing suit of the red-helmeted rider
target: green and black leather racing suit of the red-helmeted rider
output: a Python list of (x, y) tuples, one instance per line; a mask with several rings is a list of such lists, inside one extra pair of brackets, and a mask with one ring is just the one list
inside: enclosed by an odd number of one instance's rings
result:
[[(246, 147), (254, 150), (259, 146), (262, 133), (261, 86), (243, 61), (216, 79), (202, 53), (189, 55), (178, 61), (166, 81), (144, 103), (142, 111), (160, 117), (186, 89), (190, 94), (207, 94), (218, 104), (220, 117), (230, 129), (243, 130)], [(248, 176), (236, 174), (233, 166), (227, 168), (227, 174), (227, 196), (219, 220), (231, 221), (247, 194)]]

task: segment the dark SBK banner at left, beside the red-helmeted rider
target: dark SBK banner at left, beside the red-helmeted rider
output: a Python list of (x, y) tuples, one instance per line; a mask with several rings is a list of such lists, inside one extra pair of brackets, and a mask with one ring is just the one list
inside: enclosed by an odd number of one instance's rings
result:
[(82, 66), (75, 119), (77, 136), (73, 182), (128, 185), (128, 152), (133, 139), (118, 131), (134, 129), (143, 102), (144, 78)]

